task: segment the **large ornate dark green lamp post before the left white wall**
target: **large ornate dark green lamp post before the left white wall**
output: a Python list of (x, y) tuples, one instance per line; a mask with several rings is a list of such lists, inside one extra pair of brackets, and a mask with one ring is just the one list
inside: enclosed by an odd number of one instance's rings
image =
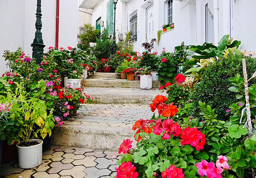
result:
[(43, 57), (43, 48), (45, 45), (43, 44), (43, 38), (42, 38), (42, 21), (41, 21), (41, 0), (37, 0), (37, 9), (36, 9), (36, 21), (35, 21), (35, 38), (33, 43), (31, 44), (31, 47), (33, 48), (32, 51), (32, 57), (36, 59), (36, 63), (41, 63), (41, 58)]

